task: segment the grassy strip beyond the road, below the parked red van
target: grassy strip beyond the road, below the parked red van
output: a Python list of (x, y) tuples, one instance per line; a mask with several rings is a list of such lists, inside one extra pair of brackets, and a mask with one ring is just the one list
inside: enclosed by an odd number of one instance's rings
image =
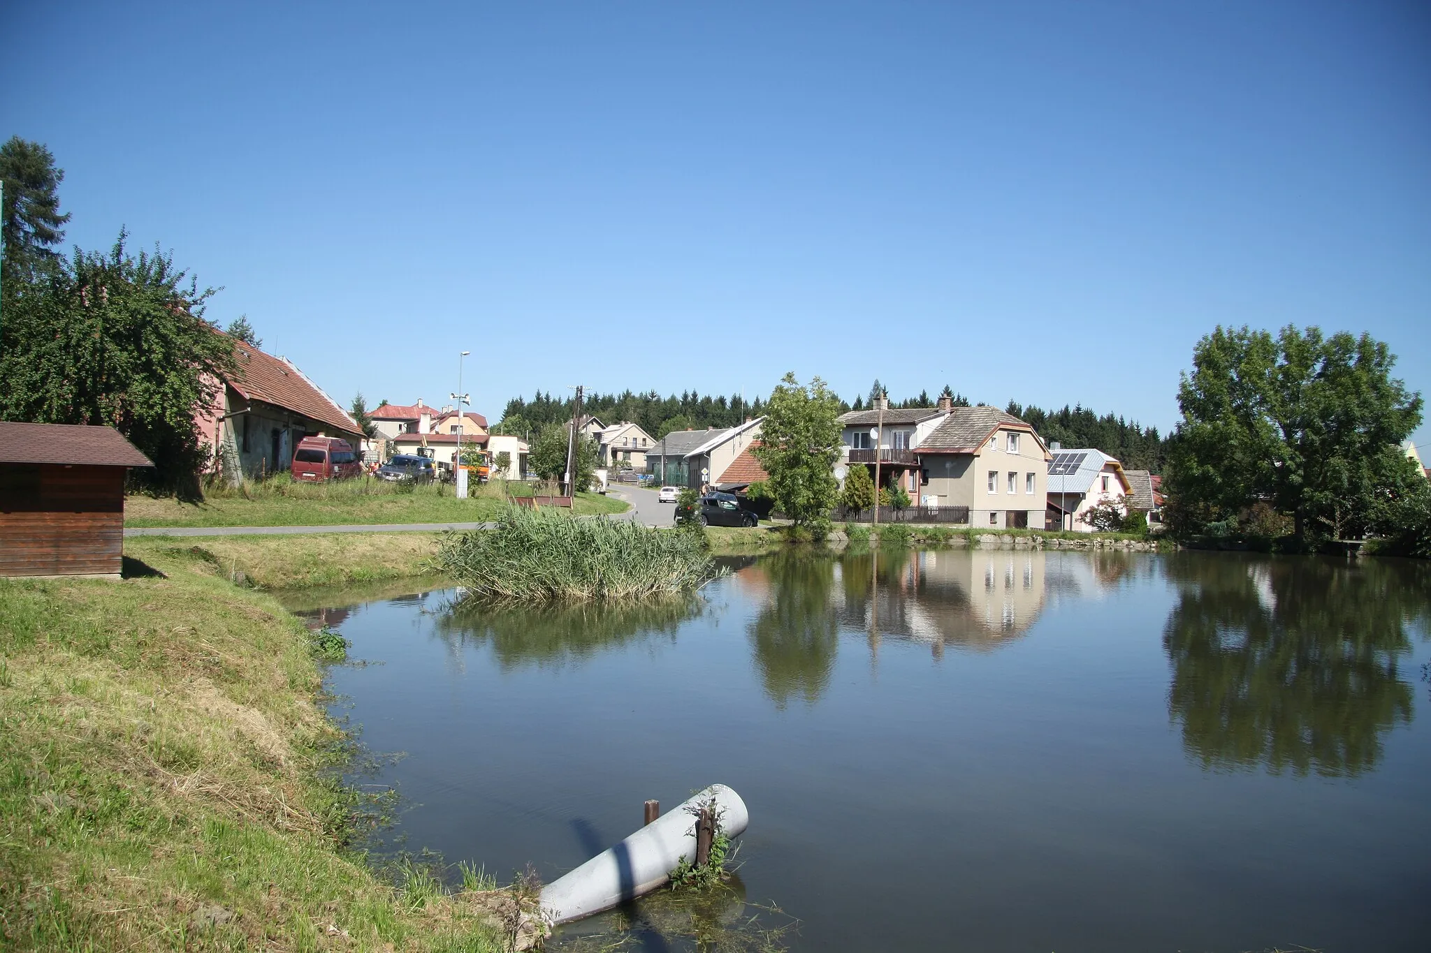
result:
[[(246, 493), (246, 494), (245, 494)], [(368, 523), (482, 523), (497, 517), (502, 497), (497, 484), (478, 487), (459, 500), (449, 486), (429, 484), (401, 492), (392, 483), (361, 479), (341, 483), (293, 483), (273, 477), (245, 493), (210, 494), (202, 503), (130, 494), (126, 526), (342, 526)], [(578, 516), (622, 513), (627, 504), (600, 493), (578, 493)]]

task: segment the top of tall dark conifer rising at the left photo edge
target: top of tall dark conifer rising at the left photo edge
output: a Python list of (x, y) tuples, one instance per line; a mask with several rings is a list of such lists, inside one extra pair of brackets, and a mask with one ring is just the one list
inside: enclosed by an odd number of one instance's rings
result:
[[(64, 240), (69, 213), (60, 213), (64, 170), (40, 143), (11, 136), (0, 146), (4, 180), (4, 273), (0, 281), (26, 281), (46, 264), (59, 261), (54, 246)], [(9, 289), (6, 289), (9, 293)]]

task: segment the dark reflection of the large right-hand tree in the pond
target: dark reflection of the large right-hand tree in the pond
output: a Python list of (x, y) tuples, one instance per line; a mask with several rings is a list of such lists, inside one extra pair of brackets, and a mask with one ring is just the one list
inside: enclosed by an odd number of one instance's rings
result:
[(1205, 767), (1355, 776), (1411, 722), (1398, 659), (1427, 612), (1420, 567), (1189, 554), (1168, 573), (1168, 710)]

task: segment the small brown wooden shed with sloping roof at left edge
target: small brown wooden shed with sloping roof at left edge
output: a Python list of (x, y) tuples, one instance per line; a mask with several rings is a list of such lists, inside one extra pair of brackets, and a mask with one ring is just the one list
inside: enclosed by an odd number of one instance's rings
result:
[(0, 421), (0, 576), (119, 579), (124, 473), (152, 466), (113, 427)]

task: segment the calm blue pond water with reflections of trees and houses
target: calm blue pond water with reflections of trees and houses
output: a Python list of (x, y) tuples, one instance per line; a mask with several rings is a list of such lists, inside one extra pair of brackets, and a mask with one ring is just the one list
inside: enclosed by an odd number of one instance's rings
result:
[[(405, 797), (392, 843), (550, 882), (645, 799), (721, 782), (751, 820), (713, 916), (773, 902), (798, 919), (790, 949), (1431, 944), (1431, 567), (940, 550), (731, 569), (660, 609), (309, 600), (379, 663), (331, 683), (369, 749), (402, 753), (381, 774)], [(634, 922), (620, 949), (695, 949), (657, 909), (564, 939)]]

